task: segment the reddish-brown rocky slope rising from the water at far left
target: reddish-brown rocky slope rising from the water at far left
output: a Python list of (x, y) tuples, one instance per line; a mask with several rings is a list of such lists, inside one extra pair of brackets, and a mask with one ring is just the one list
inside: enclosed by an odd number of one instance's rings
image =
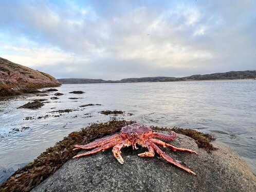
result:
[(61, 83), (51, 75), (13, 63), (0, 57), (0, 97), (36, 92)]

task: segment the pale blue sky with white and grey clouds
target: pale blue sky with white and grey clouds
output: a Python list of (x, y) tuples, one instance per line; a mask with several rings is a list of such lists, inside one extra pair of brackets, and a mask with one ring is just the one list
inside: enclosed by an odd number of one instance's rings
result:
[(256, 1), (0, 1), (0, 57), (57, 78), (256, 70)]

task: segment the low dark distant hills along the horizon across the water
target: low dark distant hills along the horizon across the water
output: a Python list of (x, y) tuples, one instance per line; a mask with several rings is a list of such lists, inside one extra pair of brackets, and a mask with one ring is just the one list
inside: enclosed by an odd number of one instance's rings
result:
[(221, 80), (221, 79), (254, 79), (256, 71), (230, 71), (226, 73), (212, 73), (206, 75), (191, 75), (188, 77), (141, 77), (126, 78), (121, 80), (103, 79), (82, 79), (64, 78), (58, 79), (62, 84), (82, 84), (82, 83), (124, 83), (124, 82), (168, 82), (168, 81), (188, 81), (188, 80)]

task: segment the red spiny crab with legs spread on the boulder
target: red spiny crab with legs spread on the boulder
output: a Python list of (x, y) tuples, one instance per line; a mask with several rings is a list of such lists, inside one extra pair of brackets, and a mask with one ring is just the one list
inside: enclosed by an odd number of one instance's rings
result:
[(162, 150), (157, 145), (163, 146), (163, 147), (168, 147), (170, 150), (176, 152), (189, 152), (189, 153), (194, 153), (197, 155), (196, 152), (192, 150), (188, 150), (186, 148), (177, 148), (175, 146), (172, 146), (168, 143), (165, 143), (161, 140), (154, 139), (153, 137), (167, 140), (167, 141), (172, 141), (176, 137), (176, 133), (171, 131), (171, 135), (164, 135), (161, 133), (156, 133), (152, 132), (149, 126), (139, 124), (139, 123), (133, 123), (132, 125), (127, 125), (122, 127), (120, 134), (116, 134), (110, 137), (106, 137), (103, 139), (99, 139), (96, 141), (93, 141), (91, 143), (88, 143), (86, 145), (75, 145), (75, 149), (77, 150), (78, 148), (82, 148), (84, 150), (89, 150), (91, 148), (95, 148), (92, 151), (82, 153), (79, 155), (76, 155), (74, 158), (86, 156), (86, 155), (91, 155), (95, 154), (101, 151), (106, 150), (107, 148), (113, 147), (113, 155), (114, 157), (119, 161), (119, 163), (123, 164), (123, 158), (121, 156), (121, 148), (125, 146), (133, 146), (133, 149), (137, 149), (136, 143), (139, 144), (142, 147), (148, 147), (149, 151), (144, 152), (141, 154), (138, 154), (139, 157), (154, 157), (155, 152), (162, 157), (163, 159), (167, 160), (168, 162), (176, 165), (179, 168), (182, 168), (186, 170), (186, 172), (191, 173), (196, 175), (192, 170), (189, 168), (186, 168), (185, 166), (182, 166), (179, 164), (177, 161), (173, 160), (171, 157), (168, 155), (164, 154)]

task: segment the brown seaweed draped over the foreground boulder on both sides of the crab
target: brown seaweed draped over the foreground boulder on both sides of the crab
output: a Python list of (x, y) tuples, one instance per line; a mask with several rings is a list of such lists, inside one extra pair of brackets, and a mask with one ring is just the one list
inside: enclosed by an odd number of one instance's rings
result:
[[(52, 175), (65, 162), (77, 155), (80, 150), (72, 151), (75, 144), (86, 144), (97, 138), (112, 135), (120, 132), (123, 126), (135, 123), (135, 121), (108, 121), (106, 123), (94, 123), (79, 132), (72, 132), (62, 141), (59, 141), (53, 147), (47, 148), (33, 162), (17, 170), (11, 177), (0, 185), (0, 191), (30, 191), (33, 187), (39, 185), (43, 180)], [(181, 129), (173, 127), (172, 129), (152, 126), (154, 131), (175, 131), (176, 133), (187, 135), (198, 144), (198, 147), (205, 148), (207, 151), (216, 150), (210, 141), (214, 140), (211, 135), (203, 134), (195, 130)]]

